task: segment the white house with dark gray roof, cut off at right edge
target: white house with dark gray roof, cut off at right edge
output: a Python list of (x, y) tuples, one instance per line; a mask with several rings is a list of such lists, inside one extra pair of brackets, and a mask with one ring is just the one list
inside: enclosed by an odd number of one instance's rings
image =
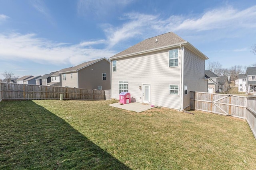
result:
[(247, 94), (256, 94), (256, 67), (246, 68)]

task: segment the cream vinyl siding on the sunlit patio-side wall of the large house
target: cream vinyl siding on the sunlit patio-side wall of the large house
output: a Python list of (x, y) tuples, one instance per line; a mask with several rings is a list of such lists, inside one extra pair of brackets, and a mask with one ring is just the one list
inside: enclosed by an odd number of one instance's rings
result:
[[(180, 50), (178, 56), (180, 61)], [(180, 109), (180, 95), (169, 94), (169, 85), (180, 85), (180, 63), (178, 67), (169, 67), (168, 59), (169, 50), (165, 50), (116, 60), (116, 65), (120, 69), (112, 72), (112, 98), (119, 99), (118, 82), (126, 80), (129, 82), (128, 92), (131, 94), (132, 102), (142, 103), (143, 89), (139, 86), (150, 84), (150, 103)]]

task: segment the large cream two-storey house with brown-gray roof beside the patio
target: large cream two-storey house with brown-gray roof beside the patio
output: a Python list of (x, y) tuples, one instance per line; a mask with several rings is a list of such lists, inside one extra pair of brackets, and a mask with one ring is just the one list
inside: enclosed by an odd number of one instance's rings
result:
[(183, 110), (190, 107), (190, 91), (208, 90), (208, 57), (172, 32), (145, 39), (109, 59), (114, 99), (129, 92), (132, 102)]

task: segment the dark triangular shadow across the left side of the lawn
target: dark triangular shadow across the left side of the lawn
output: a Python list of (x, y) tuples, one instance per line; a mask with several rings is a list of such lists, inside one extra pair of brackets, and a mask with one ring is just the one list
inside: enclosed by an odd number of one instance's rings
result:
[(130, 169), (32, 101), (0, 102), (0, 169)]

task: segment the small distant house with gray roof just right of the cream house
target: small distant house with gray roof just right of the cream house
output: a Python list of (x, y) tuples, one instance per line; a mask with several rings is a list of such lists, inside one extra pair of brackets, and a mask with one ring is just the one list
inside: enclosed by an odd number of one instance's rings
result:
[(205, 70), (205, 77), (208, 79), (208, 92), (218, 93), (219, 92), (219, 76), (214, 74), (211, 70)]

